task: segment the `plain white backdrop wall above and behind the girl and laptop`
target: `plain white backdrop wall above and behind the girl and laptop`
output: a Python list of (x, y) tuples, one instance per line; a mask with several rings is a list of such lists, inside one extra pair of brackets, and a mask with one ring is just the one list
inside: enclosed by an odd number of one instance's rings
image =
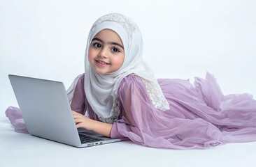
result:
[(122, 13), (143, 34), (144, 60), (157, 78), (210, 72), (223, 93), (256, 95), (256, 1), (0, 0), (0, 116), (17, 106), (8, 74), (63, 81), (84, 72), (96, 19)]

